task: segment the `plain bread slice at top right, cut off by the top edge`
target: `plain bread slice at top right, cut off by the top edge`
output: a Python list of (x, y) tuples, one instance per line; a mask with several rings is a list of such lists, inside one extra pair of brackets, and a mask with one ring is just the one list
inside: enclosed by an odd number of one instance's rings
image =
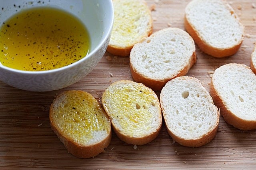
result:
[(244, 39), (244, 27), (225, 0), (190, 1), (184, 26), (198, 47), (213, 57), (235, 54)]

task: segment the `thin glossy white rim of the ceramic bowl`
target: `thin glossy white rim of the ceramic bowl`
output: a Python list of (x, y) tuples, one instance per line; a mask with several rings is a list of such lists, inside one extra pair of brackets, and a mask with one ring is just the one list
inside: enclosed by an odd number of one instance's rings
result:
[[(106, 1), (106, 0), (104, 0)], [(14, 73), (18, 73), (18, 74), (32, 74), (32, 75), (38, 75), (38, 74), (50, 74), (50, 73), (55, 73), (55, 72), (60, 72), (62, 70), (66, 70), (67, 68), (72, 68), (77, 64), (80, 64), (82, 62), (84, 62), (85, 60), (88, 60), (91, 58), (91, 56), (93, 56), (102, 46), (103, 44), (107, 41), (107, 39), (110, 37), (111, 32), (112, 32), (112, 27), (114, 24), (114, 6), (113, 6), (113, 2), (112, 0), (108, 0), (108, 2), (110, 3), (110, 9), (109, 11), (112, 13), (111, 18), (110, 18), (110, 22), (109, 22), (109, 27), (107, 27), (107, 33), (104, 34), (104, 36), (102, 37), (100, 43), (98, 43), (98, 45), (91, 51), (89, 52), (86, 56), (84, 56), (82, 59), (72, 63), (72, 64), (68, 64), (67, 66), (63, 66), (60, 68), (55, 68), (55, 69), (51, 69), (51, 70), (42, 70), (42, 71), (26, 71), (26, 70), (18, 70), (15, 68), (10, 68), (8, 66), (4, 66), (1, 62), (0, 62), (0, 69), (4, 69), (10, 72), (14, 72)]]

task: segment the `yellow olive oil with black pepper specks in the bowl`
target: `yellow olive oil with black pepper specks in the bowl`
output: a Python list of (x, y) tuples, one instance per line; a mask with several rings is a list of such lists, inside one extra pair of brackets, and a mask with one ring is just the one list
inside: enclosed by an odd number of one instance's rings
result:
[(52, 70), (85, 57), (90, 37), (75, 16), (51, 7), (22, 10), (0, 27), (0, 62), (18, 70)]

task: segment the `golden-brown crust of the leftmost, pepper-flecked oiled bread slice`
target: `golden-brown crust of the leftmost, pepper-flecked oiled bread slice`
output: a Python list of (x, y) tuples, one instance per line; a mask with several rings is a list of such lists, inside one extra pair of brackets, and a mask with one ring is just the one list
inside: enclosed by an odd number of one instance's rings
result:
[[(72, 90), (72, 91), (74, 91), (74, 90)], [(67, 91), (65, 91), (65, 92), (67, 92)], [(63, 92), (62, 94), (64, 94), (65, 92)], [(83, 91), (80, 91), (80, 90), (78, 90), (78, 92), (83, 93)], [(61, 96), (62, 94), (60, 94), (59, 96)], [(93, 98), (93, 96), (92, 96), (92, 98)], [(55, 99), (55, 101), (56, 100), (58, 100), (58, 97)], [(97, 103), (98, 103), (98, 101), (97, 101)], [(104, 109), (102, 109), (102, 111), (107, 116)], [(52, 131), (54, 131), (54, 133), (57, 135), (57, 137), (60, 139), (60, 141), (64, 144), (64, 146), (68, 150), (68, 153), (70, 153), (78, 158), (91, 158), (91, 157), (97, 156), (101, 152), (104, 152), (104, 149), (106, 147), (108, 147), (108, 145), (110, 144), (111, 137), (112, 137), (110, 121), (108, 121), (110, 131), (109, 131), (108, 135), (106, 136), (106, 138), (104, 138), (101, 141), (99, 141), (98, 143), (94, 143), (92, 145), (82, 145), (82, 144), (74, 142), (74, 139), (72, 139), (71, 137), (65, 137), (65, 134), (63, 132), (61, 132), (59, 128), (57, 128), (58, 127), (56, 124), (57, 122), (56, 122), (56, 120), (54, 120), (56, 118), (53, 117), (53, 113), (54, 113), (54, 104), (52, 104), (50, 106), (50, 114), (49, 114), (50, 126), (52, 128)]]

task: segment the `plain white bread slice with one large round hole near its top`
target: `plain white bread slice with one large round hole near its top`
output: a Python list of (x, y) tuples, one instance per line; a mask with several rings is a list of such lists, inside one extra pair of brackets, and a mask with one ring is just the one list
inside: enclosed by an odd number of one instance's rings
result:
[(170, 80), (160, 93), (160, 104), (167, 131), (180, 145), (200, 147), (215, 137), (220, 113), (198, 79)]

